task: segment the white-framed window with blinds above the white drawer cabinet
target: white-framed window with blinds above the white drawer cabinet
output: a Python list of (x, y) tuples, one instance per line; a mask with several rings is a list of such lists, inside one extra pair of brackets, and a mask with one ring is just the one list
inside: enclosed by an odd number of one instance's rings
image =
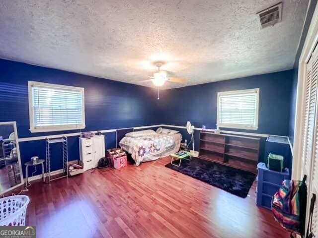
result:
[(30, 131), (85, 127), (84, 89), (28, 81)]

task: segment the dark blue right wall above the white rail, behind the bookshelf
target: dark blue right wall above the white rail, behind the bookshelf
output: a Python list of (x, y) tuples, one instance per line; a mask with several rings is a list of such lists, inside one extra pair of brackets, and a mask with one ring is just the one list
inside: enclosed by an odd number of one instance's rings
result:
[(159, 104), (165, 112), (164, 123), (185, 126), (190, 120), (196, 127), (215, 129), (218, 92), (260, 88), (258, 130), (236, 131), (287, 136), (292, 73), (287, 70), (165, 90)]

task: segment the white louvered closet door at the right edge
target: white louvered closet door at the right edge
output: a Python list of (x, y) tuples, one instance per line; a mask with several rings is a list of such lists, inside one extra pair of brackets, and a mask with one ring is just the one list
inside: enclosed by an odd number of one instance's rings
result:
[[(305, 123), (307, 120), (306, 128), (306, 141), (304, 143), (303, 158), (303, 173), (307, 175), (308, 180), (308, 204), (315, 193), (318, 195), (318, 103), (317, 103), (317, 84), (318, 84), (318, 48), (312, 54), (312, 58), (307, 64), (307, 80), (309, 83), (309, 95), (308, 86), (306, 88), (306, 106), (305, 112), (308, 116), (305, 116)], [(306, 82), (308, 85), (308, 81)], [(309, 99), (309, 100), (308, 100)], [(314, 132), (314, 137), (312, 134)], [(313, 232), (318, 237), (318, 206), (315, 207), (315, 214), (313, 217)], [(307, 215), (309, 212), (309, 206), (307, 209)], [(307, 216), (308, 219), (308, 216)]]

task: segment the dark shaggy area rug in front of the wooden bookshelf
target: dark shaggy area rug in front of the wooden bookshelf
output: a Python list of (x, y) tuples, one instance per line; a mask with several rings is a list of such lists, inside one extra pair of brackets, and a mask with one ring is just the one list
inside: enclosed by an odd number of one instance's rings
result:
[[(174, 163), (178, 163), (178, 161)], [(250, 172), (194, 157), (192, 157), (192, 161), (182, 160), (180, 167), (173, 166), (170, 163), (166, 164), (165, 167), (243, 198), (247, 196), (256, 177)]]

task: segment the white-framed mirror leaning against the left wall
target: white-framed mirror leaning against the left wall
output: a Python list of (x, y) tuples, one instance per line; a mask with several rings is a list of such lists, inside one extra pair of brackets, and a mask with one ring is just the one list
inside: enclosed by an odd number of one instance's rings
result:
[(15, 121), (0, 122), (0, 194), (23, 184)]

